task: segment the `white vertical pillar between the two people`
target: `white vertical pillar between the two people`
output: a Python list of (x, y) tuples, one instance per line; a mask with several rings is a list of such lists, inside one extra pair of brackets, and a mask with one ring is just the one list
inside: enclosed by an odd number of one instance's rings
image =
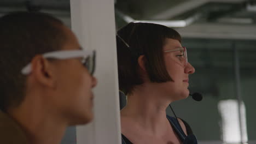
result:
[(120, 143), (114, 0), (71, 0), (71, 27), (84, 49), (96, 50), (94, 121), (77, 127), (77, 143)]

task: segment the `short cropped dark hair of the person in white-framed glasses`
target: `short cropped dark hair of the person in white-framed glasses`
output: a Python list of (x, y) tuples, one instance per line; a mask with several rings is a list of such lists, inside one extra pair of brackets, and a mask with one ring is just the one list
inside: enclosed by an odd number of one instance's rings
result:
[(44, 13), (14, 12), (0, 18), (0, 109), (18, 106), (25, 97), (21, 69), (38, 54), (62, 49), (63, 23)]

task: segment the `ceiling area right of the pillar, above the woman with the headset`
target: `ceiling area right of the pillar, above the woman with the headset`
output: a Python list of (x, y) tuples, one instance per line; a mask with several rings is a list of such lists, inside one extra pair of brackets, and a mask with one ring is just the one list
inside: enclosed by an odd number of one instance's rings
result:
[(185, 38), (256, 39), (255, 0), (152, 0), (148, 3), (140, 1), (137, 5), (136, 2), (118, 0), (115, 8), (121, 15), (117, 20), (179, 27), (177, 31)]

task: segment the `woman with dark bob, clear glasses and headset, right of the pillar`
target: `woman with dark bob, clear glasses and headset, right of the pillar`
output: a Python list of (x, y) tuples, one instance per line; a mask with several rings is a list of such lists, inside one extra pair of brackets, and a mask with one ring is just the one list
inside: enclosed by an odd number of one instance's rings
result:
[(197, 143), (189, 125), (166, 115), (166, 107), (189, 95), (188, 63), (181, 35), (172, 28), (131, 22), (117, 32), (123, 143)]

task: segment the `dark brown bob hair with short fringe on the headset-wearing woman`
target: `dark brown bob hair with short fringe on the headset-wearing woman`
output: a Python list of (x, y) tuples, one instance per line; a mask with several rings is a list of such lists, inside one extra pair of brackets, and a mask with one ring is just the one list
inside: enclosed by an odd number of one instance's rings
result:
[(166, 38), (181, 42), (181, 35), (177, 31), (154, 23), (131, 22), (121, 28), (117, 35), (120, 91), (130, 94), (136, 85), (143, 83), (138, 73), (138, 57), (141, 55), (145, 57), (145, 67), (150, 81), (172, 81), (165, 67), (162, 47)]

